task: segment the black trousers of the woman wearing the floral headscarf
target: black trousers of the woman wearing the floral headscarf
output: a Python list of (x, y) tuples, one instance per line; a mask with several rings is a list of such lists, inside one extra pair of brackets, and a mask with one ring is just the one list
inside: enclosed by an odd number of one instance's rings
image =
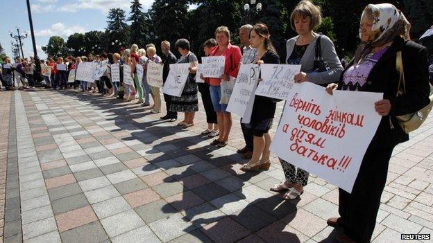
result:
[(352, 193), (339, 189), (339, 224), (355, 242), (370, 242), (393, 147), (368, 147)]

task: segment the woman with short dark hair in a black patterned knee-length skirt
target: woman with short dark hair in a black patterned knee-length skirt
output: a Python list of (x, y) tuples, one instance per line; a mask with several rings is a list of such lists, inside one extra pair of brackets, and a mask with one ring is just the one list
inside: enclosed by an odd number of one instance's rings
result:
[(182, 57), (176, 63), (189, 63), (189, 75), (180, 97), (172, 96), (170, 111), (185, 112), (185, 118), (178, 124), (182, 128), (194, 125), (194, 115), (198, 111), (197, 84), (195, 82), (198, 60), (196, 55), (189, 51), (189, 41), (178, 39), (174, 46)]

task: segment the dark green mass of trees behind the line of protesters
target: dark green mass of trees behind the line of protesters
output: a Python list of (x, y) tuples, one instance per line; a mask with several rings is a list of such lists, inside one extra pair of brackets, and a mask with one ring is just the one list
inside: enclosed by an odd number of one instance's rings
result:
[[(433, 24), (431, 0), (313, 1), (321, 7), (323, 15), (322, 24), (315, 31), (330, 37), (339, 55), (348, 55), (355, 51), (359, 44), (359, 18), (369, 3), (392, 3), (402, 10), (412, 24), (412, 39), (417, 39)], [(105, 32), (85, 33), (84, 40), (83, 34), (76, 33), (69, 36), (66, 46), (76, 50), (84, 47), (87, 51), (98, 51), (94, 50), (96, 44), (104, 51), (117, 52), (121, 46), (135, 43), (144, 47), (145, 44), (152, 42), (157, 46), (159, 53), (158, 46), (162, 40), (174, 44), (177, 39), (186, 38), (192, 45), (192, 51), (197, 55), (203, 55), (203, 42), (214, 37), (214, 31), (218, 26), (228, 26), (232, 43), (239, 45), (239, 27), (243, 24), (262, 22), (269, 26), (271, 40), (281, 59), (285, 60), (285, 43), (287, 39), (297, 35), (291, 29), (290, 14), (298, 1), (257, 2), (263, 6), (260, 12), (254, 10), (255, 5), (251, 6), (250, 11), (244, 11), (244, 4), (250, 3), (246, 0), (155, 0), (151, 8), (143, 12), (139, 0), (132, 0), (128, 18), (124, 10), (110, 9)], [(197, 8), (189, 9), (191, 4)], [(130, 26), (126, 19), (130, 21)], [(50, 53), (58, 53), (56, 48), (62, 45), (60, 42), (53, 42), (49, 46)], [(173, 53), (178, 54), (176, 51)]]

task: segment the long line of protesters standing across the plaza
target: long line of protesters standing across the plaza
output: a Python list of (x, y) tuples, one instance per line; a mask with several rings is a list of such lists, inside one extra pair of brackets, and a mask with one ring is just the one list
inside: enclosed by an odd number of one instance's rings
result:
[[(362, 12), (359, 37), (362, 43), (357, 48), (355, 58), (343, 69), (332, 41), (325, 35), (314, 33), (314, 28), (321, 23), (321, 11), (310, 1), (300, 1), (291, 13), (291, 28), (298, 35), (287, 41), (286, 64), (300, 64), (301, 71), (294, 81), (312, 82), (326, 87), (332, 95), (332, 90), (369, 91), (384, 93), (383, 100), (375, 103), (375, 110), (382, 116), (379, 127), (371, 141), (353, 186), (348, 193), (339, 190), (340, 217), (328, 219), (328, 225), (343, 228), (343, 234), (337, 236), (338, 242), (370, 242), (375, 227), (375, 219), (380, 206), (380, 197), (384, 189), (388, 163), (393, 147), (409, 139), (398, 125), (396, 116), (409, 114), (428, 104), (429, 84), (426, 48), (408, 39), (410, 24), (400, 10), (389, 3), (368, 5)], [(190, 51), (187, 39), (178, 39), (174, 44), (180, 53), (178, 60), (171, 53), (171, 44), (161, 43), (162, 57), (156, 55), (156, 47), (148, 44), (146, 49), (139, 49), (133, 44), (130, 48), (121, 48), (119, 53), (108, 55), (92, 55), (87, 57), (69, 57), (66, 60), (68, 69), (76, 68), (80, 62), (101, 62), (108, 60), (109, 64), (122, 64), (131, 67), (133, 85), (112, 82), (110, 68), (96, 82), (80, 82), (74, 80), (72, 86), (81, 91), (99, 91), (109, 96), (126, 101), (135, 100), (143, 107), (151, 107), (151, 112), (161, 111), (161, 93), (158, 87), (150, 86), (146, 80), (146, 69), (149, 62), (163, 65), (163, 81), (167, 80), (169, 65), (189, 63), (189, 75), (180, 97), (164, 94), (167, 114), (162, 120), (176, 121), (178, 113), (184, 113), (184, 118), (178, 126), (182, 128), (194, 126), (194, 114), (198, 111), (198, 91), (201, 92), (206, 113), (207, 129), (202, 134), (216, 137), (211, 145), (224, 147), (228, 144), (232, 127), (232, 116), (226, 111), (228, 100), (223, 101), (221, 85), (237, 77), (241, 64), (279, 64), (280, 57), (273, 48), (269, 28), (264, 24), (245, 25), (239, 29), (239, 39), (242, 47), (230, 44), (230, 30), (220, 26), (215, 30), (214, 38), (203, 44), (207, 56), (224, 56), (225, 68), (221, 78), (203, 78), (196, 75), (198, 58)], [(316, 48), (320, 46), (321, 60), (317, 58)], [(406, 91), (398, 95), (399, 75), (396, 71), (396, 53), (402, 51), (402, 61), (405, 69)], [(64, 63), (61, 57), (57, 64)], [(3, 78), (10, 75), (3, 64)], [(26, 66), (25, 64), (23, 64)], [(67, 73), (60, 74), (56, 62), (49, 59), (46, 65), (52, 66), (51, 77), (47, 80), (47, 88), (53, 89), (60, 84), (60, 89), (67, 89)], [(138, 80), (136, 66), (142, 65), (144, 75)], [(5, 71), (6, 70), (6, 71)], [(122, 72), (122, 69), (120, 69)], [(24, 71), (25, 72), (25, 71)], [(123, 75), (120, 75), (122, 77)], [(196, 82), (198, 79), (204, 82)], [(151, 98), (153, 105), (151, 105)], [(255, 96), (251, 122), (241, 123), (245, 147), (238, 150), (248, 163), (241, 170), (268, 170), (271, 136), (269, 129), (273, 123), (276, 102), (273, 98)], [(343, 105), (343, 104), (341, 104)], [(350, 146), (350, 145), (348, 145)], [(343, 147), (341, 148), (344, 149)], [(309, 173), (296, 168), (290, 161), (280, 159), (285, 173), (285, 181), (273, 186), (271, 190), (283, 192), (282, 197), (293, 200), (303, 194), (307, 185)]]

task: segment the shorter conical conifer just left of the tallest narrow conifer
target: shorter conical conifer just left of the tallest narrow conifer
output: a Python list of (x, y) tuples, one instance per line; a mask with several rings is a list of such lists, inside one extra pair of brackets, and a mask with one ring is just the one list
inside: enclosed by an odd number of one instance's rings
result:
[[(123, 46), (129, 45), (129, 35), (130, 28), (126, 24), (125, 11), (121, 8), (112, 8), (108, 12), (107, 16), (107, 28), (105, 29), (105, 34), (102, 35), (103, 47), (108, 51), (119, 51), (119, 45), (117, 43), (122, 43)], [(117, 42), (115, 42), (117, 40)], [(111, 43), (115, 43), (111, 45)]]

